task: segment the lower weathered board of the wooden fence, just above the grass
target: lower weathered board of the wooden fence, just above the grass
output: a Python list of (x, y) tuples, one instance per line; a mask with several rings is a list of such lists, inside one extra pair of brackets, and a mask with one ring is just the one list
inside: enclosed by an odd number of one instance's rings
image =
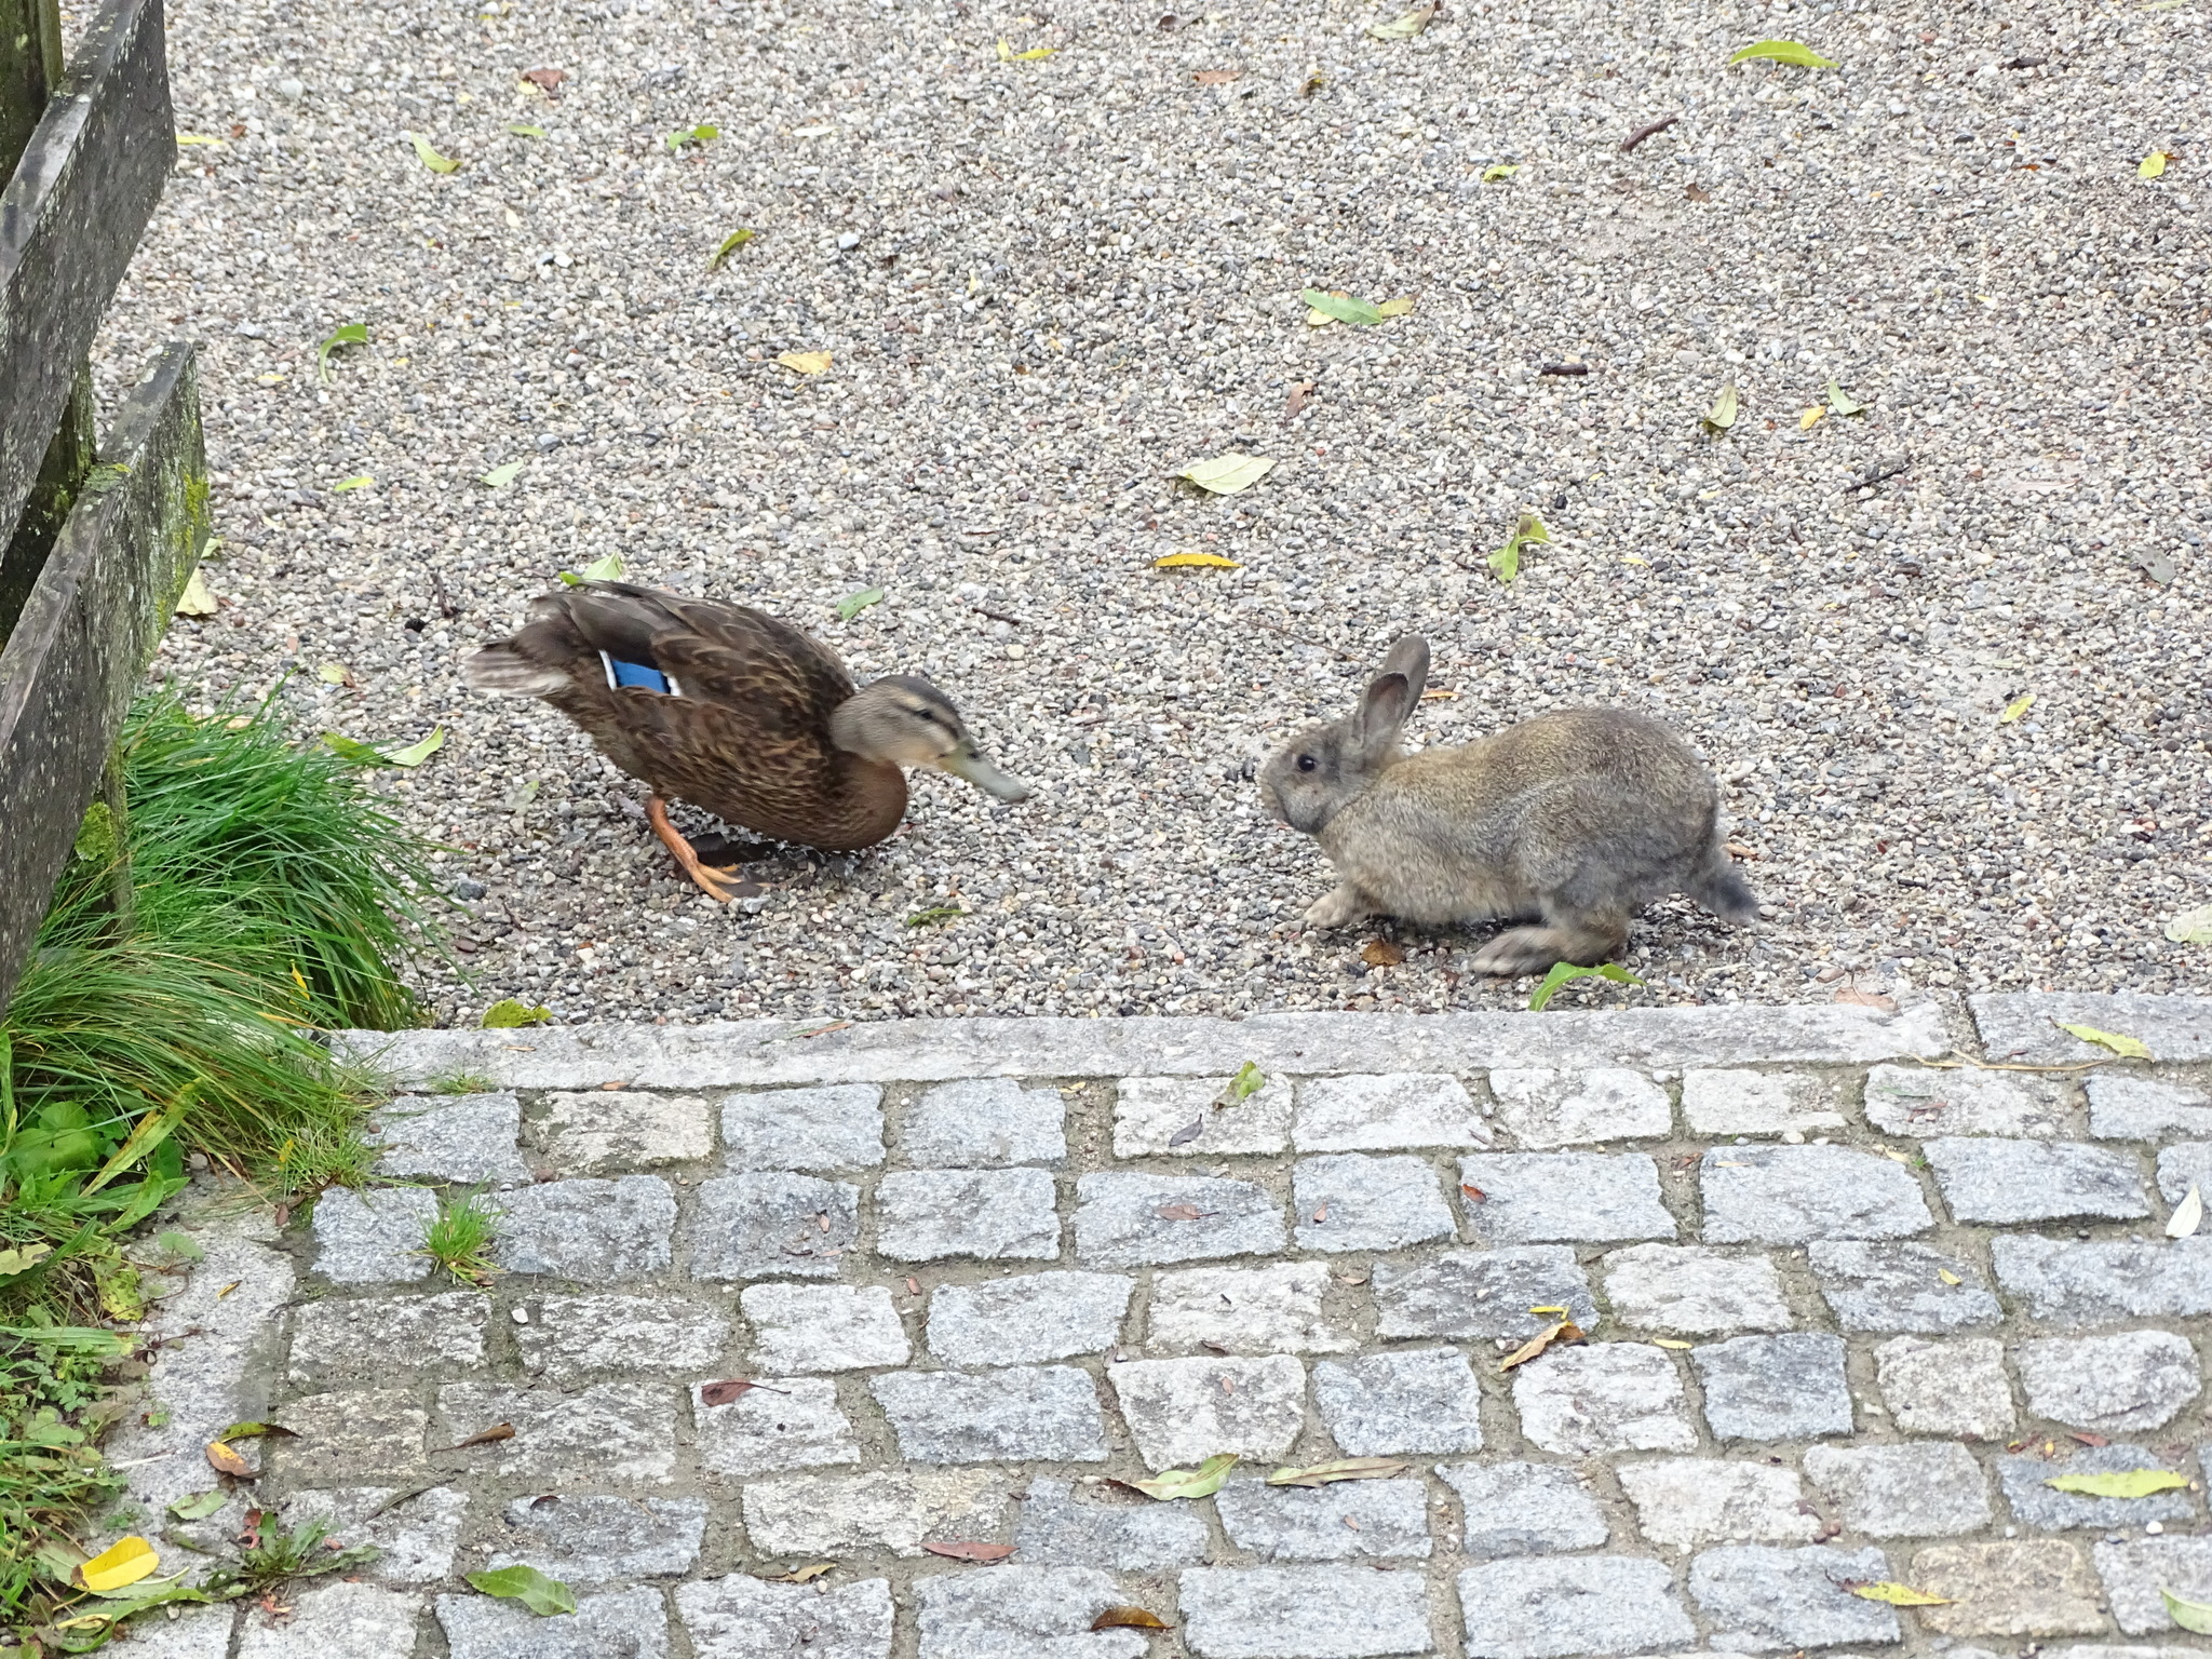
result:
[(15, 633), (0, 648), (0, 1009), (208, 542), (192, 347), (124, 398)]

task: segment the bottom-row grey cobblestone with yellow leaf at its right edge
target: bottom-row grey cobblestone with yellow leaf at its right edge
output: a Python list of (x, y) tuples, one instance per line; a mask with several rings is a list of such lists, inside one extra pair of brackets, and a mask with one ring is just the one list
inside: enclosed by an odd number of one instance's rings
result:
[(1896, 1608), (1845, 1588), (1887, 1577), (1889, 1562), (1874, 1548), (1723, 1544), (1690, 1559), (1690, 1597), (1714, 1652), (1838, 1648), (1898, 1639)]

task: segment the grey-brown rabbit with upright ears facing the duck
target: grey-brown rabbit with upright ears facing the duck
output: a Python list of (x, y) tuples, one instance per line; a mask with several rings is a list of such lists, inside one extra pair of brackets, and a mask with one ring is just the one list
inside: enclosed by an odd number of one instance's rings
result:
[(1352, 714), (1261, 768), (1267, 810), (1321, 841), (1340, 878), (1305, 920), (1540, 920), (1493, 938), (1473, 969), (1542, 973), (1615, 956), (1628, 918), (1668, 894), (1739, 927), (1759, 918), (1719, 834), (1719, 787), (1666, 726), (1568, 708), (1405, 754), (1398, 734), (1427, 679), (1429, 641), (1409, 633)]

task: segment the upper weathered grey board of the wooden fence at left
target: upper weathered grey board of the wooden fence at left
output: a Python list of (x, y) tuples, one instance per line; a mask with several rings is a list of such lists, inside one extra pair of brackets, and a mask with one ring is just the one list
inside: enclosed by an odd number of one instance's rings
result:
[(161, 0), (106, 0), (0, 192), (0, 540), (175, 157)]

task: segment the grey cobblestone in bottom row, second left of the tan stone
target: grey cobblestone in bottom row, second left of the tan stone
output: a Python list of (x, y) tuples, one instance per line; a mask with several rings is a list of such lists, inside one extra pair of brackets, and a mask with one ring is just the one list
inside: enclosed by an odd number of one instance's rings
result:
[(1674, 1575), (1632, 1555), (1471, 1566), (1460, 1573), (1460, 1613), (1467, 1659), (1668, 1652), (1697, 1641)]

